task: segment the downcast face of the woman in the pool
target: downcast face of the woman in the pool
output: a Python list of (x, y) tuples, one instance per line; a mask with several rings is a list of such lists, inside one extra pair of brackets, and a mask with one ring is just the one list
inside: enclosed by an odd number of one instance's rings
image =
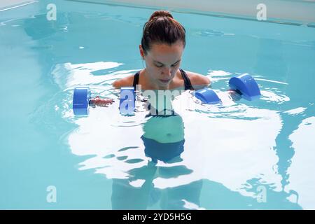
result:
[(182, 41), (177, 41), (172, 45), (155, 43), (147, 55), (144, 55), (141, 45), (139, 48), (141, 56), (146, 61), (148, 78), (160, 87), (167, 87), (181, 65), (181, 56), (184, 50)]

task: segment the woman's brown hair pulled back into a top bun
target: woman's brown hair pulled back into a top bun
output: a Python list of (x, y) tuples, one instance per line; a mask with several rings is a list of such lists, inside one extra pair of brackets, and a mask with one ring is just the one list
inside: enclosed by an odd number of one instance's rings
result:
[(141, 38), (144, 54), (151, 49), (153, 43), (167, 43), (172, 45), (176, 41), (182, 41), (185, 48), (186, 30), (171, 13), (165, 10), (155, 11), (148, 22), (145, 23)]

